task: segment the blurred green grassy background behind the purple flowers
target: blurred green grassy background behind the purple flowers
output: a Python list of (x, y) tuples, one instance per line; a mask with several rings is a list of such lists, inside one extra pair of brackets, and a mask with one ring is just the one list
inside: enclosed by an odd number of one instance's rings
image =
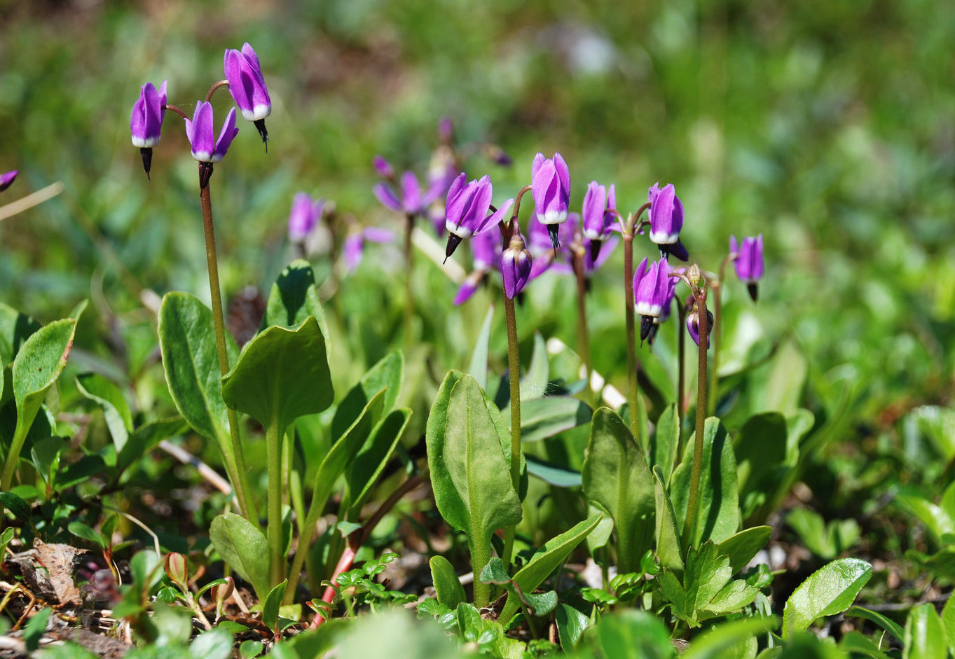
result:
[[(805, 357), (806, 395), (848, 387), (859, 423), (891, 425), (948, 400), (951, 3), (0, 0), (0, 25), (0, 171), (20, 170), (0, 202), (65, 184), (0, 223), (0, 300), (42, 322), (91, 297), (101, 317), (140, 322), (145, 336), (138, 287), (207, 298), (183, 127), (166, 117), (147, 182), (129, 114), (139, 86), (163, 79), (169, 102), (191, 113), (222, 76), (223, 50), (249, 41), (273, 101), (271, 142), (266, 155), (241, 121), (216, 166), (227, 298), (265, 287), (291, 258), (286, 218), (298, 190), (360, 223), (399, 228), (371, 195), (371, 158), (423, 174), (447, 116), (458, 141), (491, 140), (514, 159), (467, 161), (469, 178), (492, 175), (496, 200), (530, 181), (536, 152), (560, 151), (576, 207), (594, 179), (616, 183), (622, 209), (646, 201), (655, 181), (675, 183), (684, 241), (705, 268), (718, 266), (731, 234), (762, 232), (758, 305), (728, 277), (728, 374), (784, 343)], [(216, 96), (218, 120), (230, 102)], [(334, 293), (344, 312), (400, 302), (400, 256), (376, 254)], [(618, 253), (589, 304), (596, 367), (623, 389), (621, 272)], [(440, 269), (419, 259), (416, 274), (418, 306), (450, 308), (456, 287)], [(521, 335), (540, 327), (572, 344), (572, 282), (550, 281), (529, 289)], [(466, 366), (477, 300), (463, 316), (447, 312), (444, 326), (423, 321), (427, 341), (453, 346), (439, 349), (438, 378)], [(466, 331), (445, 333), (455, 328)], [(379, 329), (388, 334), (361, 330)]]

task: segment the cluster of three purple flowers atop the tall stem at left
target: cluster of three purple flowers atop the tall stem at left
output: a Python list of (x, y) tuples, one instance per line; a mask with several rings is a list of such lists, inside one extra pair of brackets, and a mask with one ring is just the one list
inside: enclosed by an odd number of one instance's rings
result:
[[(252, 121), (263, 142), (268, 140), (265, 130), (265, 117), (272, 112), (272, 103), (265, 88), (265, 79), (259, 65), (259, 57), (247, 43), (241, 51), (230, 49), (225, 51), (223, 71), (228, 82), (229, 93), (235, 100), (244, 118)], [(147, 82), (139, 89), (139, 98), (133, 105), (129, 127), (133, 137), (133, 145), (139, 147), (142, 154), (142, 166), (149, 176), (152, 166), (153, 147), (159, 144), (162, 137), (162, 120), (166, 109), (166, 81), (156, 86)], [(212, 117), (212, 104), (200, 100), (196, 103), (196, 110), (192, 118), (184, 117), (186, 136), (192, 146), (192, 157), (200, 162), (219, 162), (225, 156), (232, 139), (239, 133), (236, 127), (236, 109), (229, 111), (219, 137), (216, 137), (215, 125)], [(204, 187), (211, 175), (211, 167), (201, 179)]]

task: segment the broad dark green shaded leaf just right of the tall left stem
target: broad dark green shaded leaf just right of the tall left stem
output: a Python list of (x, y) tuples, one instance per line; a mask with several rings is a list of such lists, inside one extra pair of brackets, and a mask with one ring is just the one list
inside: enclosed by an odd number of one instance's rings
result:
[(280, 431), (299, 416), (325, 410), (334, 398), (325, 347), (314, 316), (294, 330), (261, 331), (223, 376), (225, 404)]

